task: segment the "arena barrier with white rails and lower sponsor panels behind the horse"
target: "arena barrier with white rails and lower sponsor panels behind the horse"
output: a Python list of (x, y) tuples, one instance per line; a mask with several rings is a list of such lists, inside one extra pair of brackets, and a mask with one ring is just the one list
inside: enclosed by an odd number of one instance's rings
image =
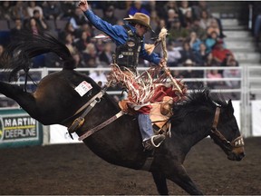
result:
[[(247, 68), (247, 69), (246, 69)], [(139, 70), (142, 72), (147, 70), (148, 67), (140, 67)], [(201, 70), (208, 72), (208, 67), (176, 67), (170, 68), (170, 70)], [(220, 67), (211, 67), (213, 69), (224, 69)], [(226, 69), (235, 69), (235, 67), (226, 67)], [(257, 80), (257, 78), (249, 77), (249, 72), (252, 69), (261, 72), (261, 67), (237, 67), (241, 70), (242, 77), (236, 78), (241, 81), (241, 85), (237, 89), (211, 89), (213, 93), (224, 94), (225, 97), (230, 97), (232, 93), (238, 93), (238, 99), (232, 100), (234, 106), (234, 114), (238, 122), (238, 126), (244, 135), (244, 137), (261, 136), (261, 100), (258, 98), (257, 93), (261, 92), (259, 88), (251, 88), (250, 81)], [(32, 73), (37, 73), (36, 75), (44, 75), (48, 73), (53, 73), (60, 71), (57, 68), (40, 68), (30, 70)], [(103, 72), (107, 73), (110, 68), (79, 68), (76, 69), (79, 72)], [(20, 77), (22, 78), (22, 77)], [(235, 78), (233, 78), (235, 79)], [(213, 82), (213, 79), (208, 78), (183, 78), (185, 83), (191, 81), (198, 83), (208, 83), (209, 80)], [(231, 80), (231, 78), (222, 78), (217, 81)], [(260, 78), (259, 78), (260, 80)], [(98, 81), (97, 81), (98, 82)], [(19, 82), (21, 85), (24, 84), (23, 78)], [(260, 81), (261, 83), (261, 81)], [(34, 83), (28, 82), (29, 86), (34, 89)], [(121, 91), (108, 91), (111, 96), (121, 97)], [(253, 100), (252, 93), (256, 94), (256, 99)], [(228, 99), (227, 98), (227, 99)], [(13, 101), (1, 95), (1, 103), (12, 103)], [(73, 133), (73, 140), (68, 134), (67, 128), (59, 125), (53, 124), (49, 126), (44, 126), (40, 122), (35, 121), (28, 113), (25, 113), (17, 104), (12, 107), (2, 107), (0, 109), (0, 148), (5, 147), (21, 147), (28, 145), (46, 145), (46, 144), (58, 144), (58, 143), (75, 143), (78, 141), (78, 136)], [(55, 110), (55, 105), (53, 105), (53, 110)]]

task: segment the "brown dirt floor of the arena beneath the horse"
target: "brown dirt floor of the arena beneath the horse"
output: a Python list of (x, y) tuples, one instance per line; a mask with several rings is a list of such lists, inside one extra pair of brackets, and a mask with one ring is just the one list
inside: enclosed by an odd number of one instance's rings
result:
[[(190, 152), (185, 167), (207, 195), (261, 195), (261, 138), (245, 140), (247, 156), (231, 162), (210, 139)], [(111, 165), (84, 144), (0, 149), (1, 195), (151, 195), (151, 174)], [(169, 194), (187, 194), (168, 181)]]

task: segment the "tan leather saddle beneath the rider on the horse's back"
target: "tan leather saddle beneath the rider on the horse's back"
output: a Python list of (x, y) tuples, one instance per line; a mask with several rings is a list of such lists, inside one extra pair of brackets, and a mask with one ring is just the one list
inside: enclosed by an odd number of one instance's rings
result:
[[(155, 134), (169, 135), (169, 118), (172, 115), (173, 103), (173, 99), (169, 96), (164, 96), (160, 103), (151, 103), (150, 120)], [(122, 100), (118, 104), (124, 113), (129, 115), (136, 115), (138, 113), (131, 107), (128, 100)]]

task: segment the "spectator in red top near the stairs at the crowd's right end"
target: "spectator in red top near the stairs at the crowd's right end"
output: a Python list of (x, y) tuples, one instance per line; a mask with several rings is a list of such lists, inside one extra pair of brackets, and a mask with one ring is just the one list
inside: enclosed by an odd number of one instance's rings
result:
[(234, 57), (234, 54), (230, 50), (224, 47), (223, 40), (219, 39), (217, 44), (215, 44), (212, 50), (213, 58), (218, 62), (218, 64), (224, 64), (224, 61), (227, 60), (227, 56), (231, 55)]

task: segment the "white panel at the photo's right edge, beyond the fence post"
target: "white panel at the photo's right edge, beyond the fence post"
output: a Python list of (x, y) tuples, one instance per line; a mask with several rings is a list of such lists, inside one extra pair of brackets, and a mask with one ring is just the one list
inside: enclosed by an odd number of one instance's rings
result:
[(261, 101), (252, 101), (252, 136), (261, 136)]

